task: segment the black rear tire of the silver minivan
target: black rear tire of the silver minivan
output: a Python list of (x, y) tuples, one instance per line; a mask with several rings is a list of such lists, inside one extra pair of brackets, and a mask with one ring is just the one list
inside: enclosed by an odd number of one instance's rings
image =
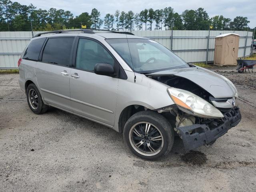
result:
[[(31, 97), (29, 95), (32, 93), (36, 94), (35, 96), (37, 96), (36, 98), (38, 98), (37, 106), (35, 103), (33, 104), (32, 99), (30, 99)], [(38, 88), (36, 87), (35, 84), (28, 85), (28, 88), (26, 90), (26, 95), (27, 95), (28, 106), (35, 114), (42, 114), (48, 110), (48, 105), (44, 104), (44, 102), (42, 101), (42, 96), (41, 96), (40, 92), (38, 91)], [(35, 101), (35, 98), (33, 101)]]

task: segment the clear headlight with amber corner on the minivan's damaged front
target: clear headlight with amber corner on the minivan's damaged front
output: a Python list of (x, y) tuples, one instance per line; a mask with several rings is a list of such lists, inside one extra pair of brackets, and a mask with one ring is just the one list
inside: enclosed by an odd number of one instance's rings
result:
[(182, 89), (168, 88), (173, 102), (180, 110), (203, 118), (222, 118), (223, 114), (199, 96)]

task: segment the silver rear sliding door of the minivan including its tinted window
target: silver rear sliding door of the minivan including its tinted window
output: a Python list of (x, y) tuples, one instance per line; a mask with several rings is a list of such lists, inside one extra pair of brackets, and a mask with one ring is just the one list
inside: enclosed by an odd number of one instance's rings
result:
[(36, 78), (44, 100), (70, 111), (70, 64), (74, 37), (48, 38), (41, 61), (36, 66)]

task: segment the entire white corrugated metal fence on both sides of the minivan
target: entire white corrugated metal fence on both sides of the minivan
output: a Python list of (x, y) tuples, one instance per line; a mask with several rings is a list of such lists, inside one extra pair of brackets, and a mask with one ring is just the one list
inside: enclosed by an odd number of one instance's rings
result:
[[(34, 35), (39, 32), (34, 32)], [(233, 31), (132, 31), (135, 35), (151, 38), (172, 50), (186, 62), (212, 62), (215, 37)], [(249, 56), (252, 32), (235, 31), (240, 35), (238, 57)], [(20, 54), (32, 38), (31, 32), (0, 32), (0, 68), (17, 68)], [(207, 59), (206, 59), (207, 58)]]

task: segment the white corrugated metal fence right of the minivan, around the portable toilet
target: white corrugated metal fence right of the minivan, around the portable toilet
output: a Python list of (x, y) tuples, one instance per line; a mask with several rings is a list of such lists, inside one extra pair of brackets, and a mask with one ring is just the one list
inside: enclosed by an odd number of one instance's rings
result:
[[(220, 34), (240, 35), (238, 57), (250, 55), (252, 32), (210, 30), (173, 30), (173, 31), (133, 31), (134, 34), (148, 37), (172, 50), (186, 62), (213, 62), (215, 37)], [(208, 52), (208, 53), (207, 53)]]

